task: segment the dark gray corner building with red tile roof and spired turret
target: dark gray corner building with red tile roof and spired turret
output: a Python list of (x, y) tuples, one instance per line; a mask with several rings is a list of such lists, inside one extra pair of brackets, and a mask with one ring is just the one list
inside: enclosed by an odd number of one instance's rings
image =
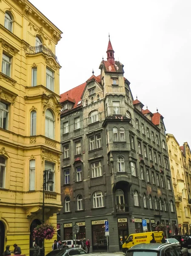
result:
[[(61, 95), (62, 240), (89, 239), (90, 251), (121, 249), (130, 233), (165, 224), (177, 233), (177, 213), (163, 117), (133, 99), (123, 64), (109, 40), (100, 75)], [(162, 104), (162, 102), (161, 102)]]

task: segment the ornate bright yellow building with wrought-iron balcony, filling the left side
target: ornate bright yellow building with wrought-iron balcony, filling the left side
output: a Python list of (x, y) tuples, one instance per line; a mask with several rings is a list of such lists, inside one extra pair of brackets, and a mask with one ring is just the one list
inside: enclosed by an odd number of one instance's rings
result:
[[(0, 256), (16, 243), (32, 254), (32, 230), (56, 226), (60, 202), (61, 31), (28, 0), (0, 0)], [(55, 235), (56, 238), (56, 235)], [(53, 243), (45, 241), (45, 253)]]

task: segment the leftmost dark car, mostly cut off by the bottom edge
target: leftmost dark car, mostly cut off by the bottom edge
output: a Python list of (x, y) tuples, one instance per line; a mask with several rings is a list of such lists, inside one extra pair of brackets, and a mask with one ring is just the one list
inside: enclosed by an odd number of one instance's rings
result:
[(74, 256), (79, 254), (86, 254), (86, 251), (81, 248), (63, 248), (60, 250), (53, 250), (46, 254), (46, 256)]

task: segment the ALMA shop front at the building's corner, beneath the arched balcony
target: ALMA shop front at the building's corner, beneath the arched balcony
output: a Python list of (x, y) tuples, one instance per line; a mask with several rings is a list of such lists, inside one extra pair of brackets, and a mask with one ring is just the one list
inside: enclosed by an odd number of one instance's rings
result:
[(128, 238), (128, 223), (127, 218), (118, 218), (118, 235), (119, 235), (119, 246), (120, 250), (122, 250), (122, 245), (125, 243)]

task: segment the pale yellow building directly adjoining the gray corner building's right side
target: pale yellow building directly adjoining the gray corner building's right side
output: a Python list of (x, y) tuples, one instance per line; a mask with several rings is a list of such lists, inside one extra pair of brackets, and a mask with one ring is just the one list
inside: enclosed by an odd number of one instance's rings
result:
[(188, 191), (185, 170), (182, 160), (182, 150), (174, 135), (166, 134), (169, 163), (177, 209), (178, 228), (180, 234), (190, 234), (191, 215), (188, 204)]

